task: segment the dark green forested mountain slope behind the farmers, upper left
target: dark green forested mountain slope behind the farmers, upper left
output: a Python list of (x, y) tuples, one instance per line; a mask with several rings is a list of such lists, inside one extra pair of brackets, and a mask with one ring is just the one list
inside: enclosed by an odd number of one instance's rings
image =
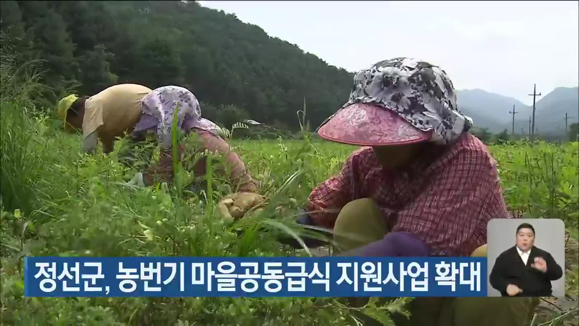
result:
[[(44, 94), (93, 95), (117, 83), (181, 85), (225, 126), (252, 118), (314, 128), (349, 95), (353, 74), (234, 15), (184, 1), (2, 1), (3, 46), (42, 59)], [(26, 59), (23, 59), (26, 60)], [(211, 104), (208, 104), (211, 103)]]

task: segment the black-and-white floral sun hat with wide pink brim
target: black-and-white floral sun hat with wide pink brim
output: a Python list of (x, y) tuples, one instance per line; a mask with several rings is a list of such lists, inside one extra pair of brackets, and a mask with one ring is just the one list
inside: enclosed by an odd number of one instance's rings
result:
[(467, 132), (445, 71), (416, 59), (383, 60), (354, 76), (349, 101), (318, 127), (318, 135), (358, 146), (445, 144)]

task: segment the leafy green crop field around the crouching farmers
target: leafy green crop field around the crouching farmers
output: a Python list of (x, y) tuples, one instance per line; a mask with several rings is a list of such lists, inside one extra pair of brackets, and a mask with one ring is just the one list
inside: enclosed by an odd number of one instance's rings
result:
[[(303, 205), (318, 182), (338, 172), (356, 147), (309, 139), (233, 141), (269, 203), (262, 215), (228, 226), (215, 211), (215, 203), (229, 192), (223, 180), (209, 178), (210, 186), (184, 191), (182, 197), (166, 185), (128, 186), (136, 171), (118, 162), (124, 140), (111, 155), (83, 157), (79, 136), (64, 134), (60, 122), (23, 107), (32, 108), (18, 99), (2, 102), (1, 108), (3, 325), (352, 322), (350, 311), (332, 299), (24, 298), (20, 258), (25, 255), (305, 255), (277, 244), (277, 222), (291, 219), (291, 209)], [(510, 208), (562, 218), (576, 237), (578, 146), (491, 146)], [(219, 158), (213, 161), (219, 164)], [(244, 233), (238, 235), (239, 230)], [(567, 291), (576, 298), (577, 256), (567, 260)], [(366, 312), (388, 318), (383, 310), (368, 307)]]

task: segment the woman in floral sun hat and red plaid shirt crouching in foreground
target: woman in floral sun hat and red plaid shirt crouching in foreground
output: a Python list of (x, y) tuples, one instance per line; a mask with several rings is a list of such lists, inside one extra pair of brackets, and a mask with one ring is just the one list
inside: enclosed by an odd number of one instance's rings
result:
[[(344, 256), (486, 256), (487, 222), (510, 216), (495, 162), (471, 125), (433, 64), (399, 57), (360, 71), (349, 101), (317, 132), (364, 147), (312, 191), (297, 222), (331, 230)], [(397, 325), (527, 325), (537, 305), (538, 298), (416, 298), (410, 320), (393, 318)]]

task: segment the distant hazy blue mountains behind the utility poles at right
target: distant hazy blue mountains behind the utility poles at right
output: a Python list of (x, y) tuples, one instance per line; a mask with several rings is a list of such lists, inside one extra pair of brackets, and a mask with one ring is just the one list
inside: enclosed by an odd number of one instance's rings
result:
[[(504, 129), (512, 130), (512, 118), (508, 114), (513, 104), (518, 114), (515, 115), (515, 133), (529, 132), (529, 117), (533, 107), (523, 104), (512, 97), (487, 92), (482, 89), (457, 90), (459, 110), (473, 119), (474, 125), (488, 128), (490, 132), (499, 133)], [(545, 135), (562, 135), (565, 133), (565, 113), (569, 118), (567, 125), (579, 122), (579, 87), (558, 87), (547, 95), (538, 97), (535, 104), (535, 132)], [(523, 118), (524, 117), (524, 118)]]

